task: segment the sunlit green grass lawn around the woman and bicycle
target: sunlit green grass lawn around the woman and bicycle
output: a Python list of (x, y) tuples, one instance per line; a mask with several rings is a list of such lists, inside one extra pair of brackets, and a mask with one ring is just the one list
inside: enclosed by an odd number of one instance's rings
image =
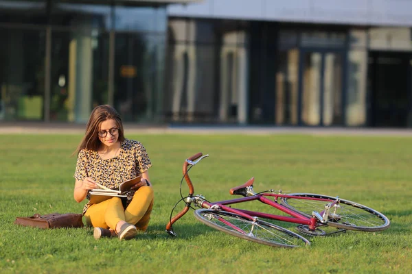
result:
[[(153, 164), (155, 207), (146, 234), (128, 241), (94, 240), (90, 228), (14, 225), (16, 216), (82, 212), (84, 202), (73, 199), (76, 156), (71, 156), (81, 137), (0, 135), (0, 273), (411, 271), (412, 138), (130, 135), (145, 145)], [(273, 188), (339, 195), (382, 212), (391, 227), (310, 238), (308, 248), (281, 249), (215, 231), (191, 211), (174, 225), (179, 237), (170, 238), (165, 225), (180, 199), (182, 164), (197, 152), (210, 157), (190, 175), (195, 193), (209, 201), (231, 199), (231, 187), (255, 177), (256, 192)], [(294, 225), (284, 226), (295, 231)]]

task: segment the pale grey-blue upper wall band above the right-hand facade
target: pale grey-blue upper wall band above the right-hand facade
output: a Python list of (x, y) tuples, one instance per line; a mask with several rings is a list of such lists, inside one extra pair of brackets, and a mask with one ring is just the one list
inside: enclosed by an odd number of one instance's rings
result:
[(410, 0), (203, 0), (168, 7), (170, 16), (412, 26)]

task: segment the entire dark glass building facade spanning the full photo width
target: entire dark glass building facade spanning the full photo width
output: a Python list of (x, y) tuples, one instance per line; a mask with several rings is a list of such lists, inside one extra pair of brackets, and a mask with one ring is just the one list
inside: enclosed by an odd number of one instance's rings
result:
[(412, 127), (410, 27), (151, 3), (0, 0), (0, 121), (84, 123), (108, 103), (134, 123)]

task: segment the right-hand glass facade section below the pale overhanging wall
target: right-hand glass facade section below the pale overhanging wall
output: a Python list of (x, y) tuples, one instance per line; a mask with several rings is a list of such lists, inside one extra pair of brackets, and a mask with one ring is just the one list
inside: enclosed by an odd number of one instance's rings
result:
[(170, 123), (412, 127), (412, 32), (171, 17)]

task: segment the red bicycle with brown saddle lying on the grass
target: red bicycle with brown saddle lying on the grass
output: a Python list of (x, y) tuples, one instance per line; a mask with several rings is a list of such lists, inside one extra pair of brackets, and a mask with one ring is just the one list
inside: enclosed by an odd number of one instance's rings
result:
[[(172, 229), (173, 223), (186, 214), (192, 207), (192, 203), (201, 208), (194, 211), (194, 216), (205, 225), (232, 236), (274, 247), (301, 247), (310, 245), (310, 241), (284, 227), (270, 223), (271, 220), (297, 223), (299, 224), (297, 231), (309, 236), (325, 236), (346, 230), (377, 232), (389, 228), (390, 221), (384, 214), (339, 197), (310, 193), (284, 195), (281, 190), (278, 193), (275, 193), (275, 190), (255, 193), (253, 177), (242, 186), (231, 188), (231, 195), (242, 195), (242, 198), (209, 202), (201, 195), (194, 195), (194, 186), (188, 174), (192, 166), (208, 156), (197, 153), (185, 160), (183, 164), (183, 178), (189, 186), (189, 195), (183, 197), (181, 194), (181, 200), (176, 203), (176, 206), (184, 201), (185, 208), (172, 218), (176, 208), (174, 206), (170, 214), (166, 232), (172, 236), (176, 236)], [(187, 169), (187, 166), (190, 168)], [(289, 216), (231, 207), (233, 204), (256, 200), (277, 208)], [(336, 227), (337, 230), (326, 233), (322, 228), (327, 226)]]

